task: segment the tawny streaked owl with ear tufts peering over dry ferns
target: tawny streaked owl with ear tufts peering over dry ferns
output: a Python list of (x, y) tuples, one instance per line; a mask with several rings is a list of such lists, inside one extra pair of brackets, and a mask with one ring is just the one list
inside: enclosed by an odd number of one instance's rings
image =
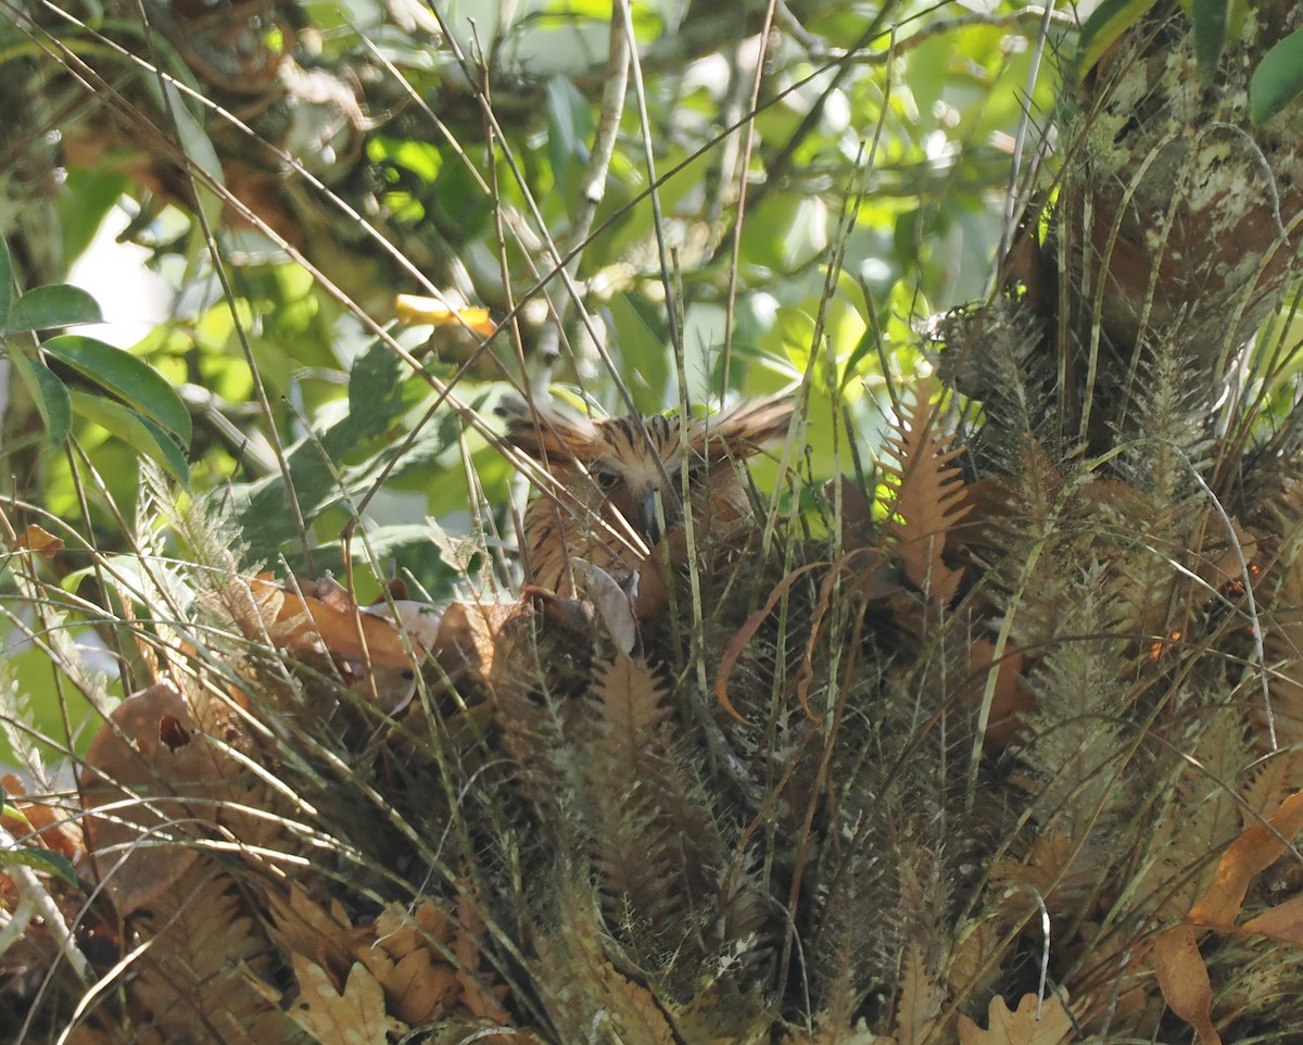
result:
[(680, 414), (655, 414), (640, 426), (635, 417), (593, 421), (555, 405), (530, 409), (504, 400), (498, 413), (507, 420), (507, 440), (555, 480), (525, 509), (526, 577), (573, 595), (576, 562), (623, 580), (662, 538), (679, 537), (681, 546), (684, 461), (697, 545), (749, 529), (744, 461), (786, 434), (792, 409), (791, 399), (775, 397), (687, 423)]

